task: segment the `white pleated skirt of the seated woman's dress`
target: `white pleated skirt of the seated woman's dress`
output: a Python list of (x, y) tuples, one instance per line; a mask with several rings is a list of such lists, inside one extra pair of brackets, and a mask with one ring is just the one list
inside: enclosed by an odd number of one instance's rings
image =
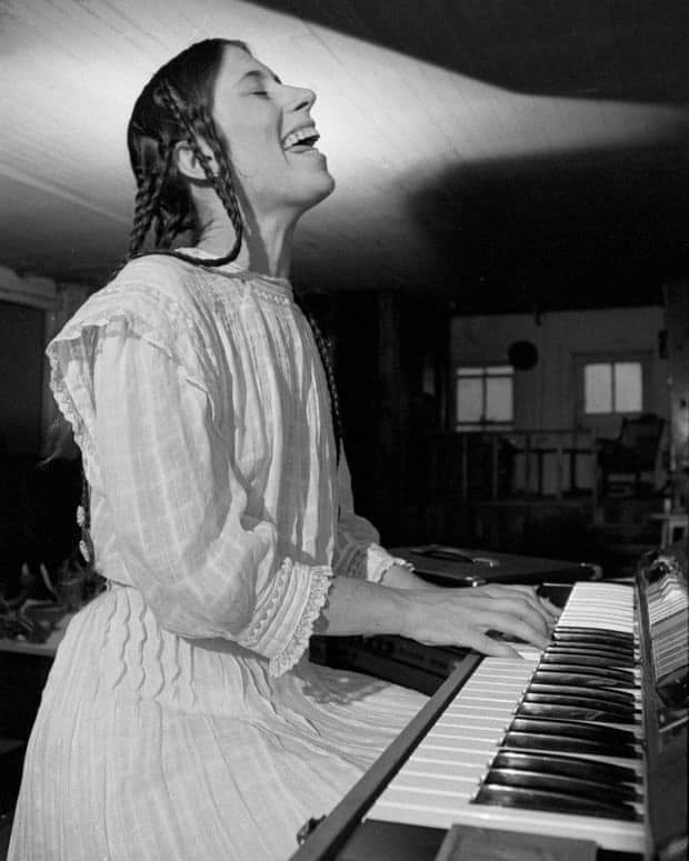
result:
[(274, 679), (113, 585), (74, 617), (31, 735), (9, 861), (266, 861), (426, 702), (306, 658)]

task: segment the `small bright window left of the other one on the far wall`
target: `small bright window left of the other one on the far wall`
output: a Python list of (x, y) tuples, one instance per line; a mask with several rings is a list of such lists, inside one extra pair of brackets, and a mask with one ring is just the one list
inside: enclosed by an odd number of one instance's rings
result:
[(509, 428), (513, 369), (509, 364), (457, 369), (457, 430)]

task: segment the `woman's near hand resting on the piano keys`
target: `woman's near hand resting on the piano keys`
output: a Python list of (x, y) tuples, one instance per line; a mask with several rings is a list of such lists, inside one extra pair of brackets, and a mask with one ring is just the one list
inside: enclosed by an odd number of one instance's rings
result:
[(489, 637), (489, 631), (543, 649), (559, 613), (527, 585), (415, 589), (405, 595), (409, 600), (403, 637), (429, 645), (468, 647), (495, 657), (515, 657), (518, 652)]

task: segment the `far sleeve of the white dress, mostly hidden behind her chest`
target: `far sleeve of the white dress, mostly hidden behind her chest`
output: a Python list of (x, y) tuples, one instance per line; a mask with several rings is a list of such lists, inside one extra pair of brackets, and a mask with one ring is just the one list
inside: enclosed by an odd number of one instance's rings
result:
[(366, 518), (355, 513), (351, 475), (343, 451), (338, 468), (338, 500), (340, 513), (332, 563), (336, 574), (378, 583), (391, 565), (413, 568), (405, 559), (383, 550), (378, 543), (377, 530)]

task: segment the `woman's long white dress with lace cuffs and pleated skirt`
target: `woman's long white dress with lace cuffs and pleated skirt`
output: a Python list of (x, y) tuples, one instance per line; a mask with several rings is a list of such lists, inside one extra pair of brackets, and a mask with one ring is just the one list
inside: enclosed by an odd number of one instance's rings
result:
[(108, 589), (58, 650), (9, 859), (287, 859), (426, 701), (307, 660), (332, 577), (393, 560), (290, 284), (142, 258), (48, 354)]

